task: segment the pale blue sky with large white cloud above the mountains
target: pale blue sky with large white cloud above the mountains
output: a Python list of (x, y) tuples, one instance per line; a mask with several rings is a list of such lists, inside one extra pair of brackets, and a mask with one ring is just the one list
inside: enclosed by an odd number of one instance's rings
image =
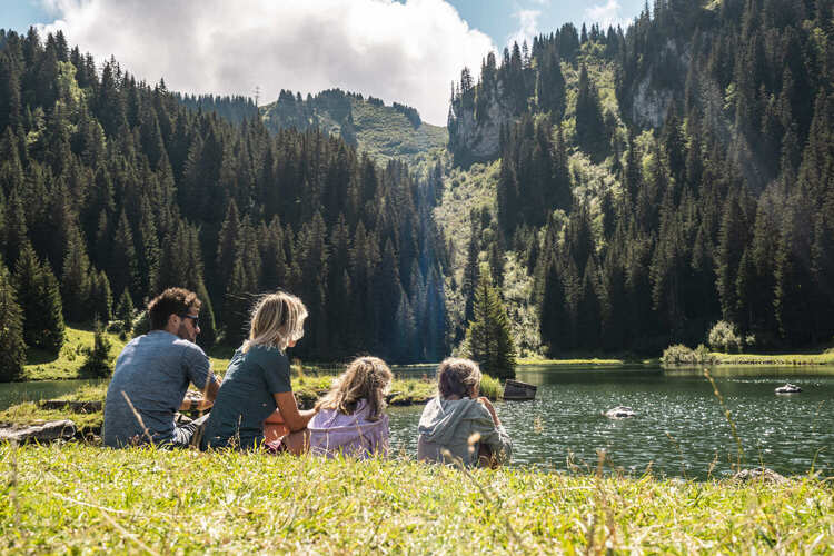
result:
[(0, 28), (63, 30), (100, 63), (171, 90), (254, 96), (338, 87), (445, 125), (449, 86), (487, 52), (572, 21), (620, 24), (645, 0), (0, 0)]

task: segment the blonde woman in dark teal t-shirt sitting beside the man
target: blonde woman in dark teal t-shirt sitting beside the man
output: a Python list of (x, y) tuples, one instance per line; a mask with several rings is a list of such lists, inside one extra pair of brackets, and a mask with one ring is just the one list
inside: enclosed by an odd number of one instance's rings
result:
[[(307, 423), (316, 410), (298, 409), (287, 357), (287, 348), (304, 336), (305, 318), (307, 308), (290, 294), (267, 294), (258, 300), (249, 339), (235, 351), (217, 394), (202, 437), (203, 448), (251, 449), (266, 445), (276, 453), (306, 450)], [(266, 443), (265, 421), (280, 421), (288, 434)]]

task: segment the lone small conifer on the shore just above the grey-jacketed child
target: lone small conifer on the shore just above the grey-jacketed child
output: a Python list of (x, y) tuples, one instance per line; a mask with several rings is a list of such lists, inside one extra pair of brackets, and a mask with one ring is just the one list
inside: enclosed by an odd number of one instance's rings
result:
[(465, 351), (487, 375), (514, 378), (516, 349), (498, 291), (488, 272), (481, 272), (475, 289), (474, 318), (466, 330)]

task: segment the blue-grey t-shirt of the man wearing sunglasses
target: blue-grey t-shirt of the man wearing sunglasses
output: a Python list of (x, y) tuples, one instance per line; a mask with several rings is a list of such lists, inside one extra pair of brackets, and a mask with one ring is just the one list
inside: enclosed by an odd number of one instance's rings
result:
[(119, 354), (107, 389), (105, 445), (148, 441), (122, 393), (142, 417), (153, 444), (167, 444), (173, 436), (173, 414), (182, 404), (188, 383), (202, 390), (209, 377), (215, 380), (208, 357), (197, 344), (166, 330), (133, 338)]

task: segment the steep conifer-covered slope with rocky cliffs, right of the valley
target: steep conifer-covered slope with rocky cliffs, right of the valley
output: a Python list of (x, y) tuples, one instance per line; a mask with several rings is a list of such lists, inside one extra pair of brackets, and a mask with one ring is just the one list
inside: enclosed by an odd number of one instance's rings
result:
[(464, 69), (449, 149), (499, 160), (465, 281), (522, 260), (528, 348), (553, 356), (695, 346), (718, 320), (745, 349), (830, 341), (833, 30), (827, 0), (656, 0)]

